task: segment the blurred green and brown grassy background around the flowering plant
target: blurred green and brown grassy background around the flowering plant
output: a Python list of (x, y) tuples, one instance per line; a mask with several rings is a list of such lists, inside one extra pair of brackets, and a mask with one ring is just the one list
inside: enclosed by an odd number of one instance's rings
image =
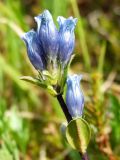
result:
[[(80, 160), (60, 134), (57, 100), (20, 80), (35, 76), (20, 36), (49, 9), (78, 18), (70, 73), (82, 73), (84, 118), (90, 123), (90, 160), (120, 159), (120, 1), (0, 1), (0, 160)], [(56, 23), (57, 24), (57, 23)]]

